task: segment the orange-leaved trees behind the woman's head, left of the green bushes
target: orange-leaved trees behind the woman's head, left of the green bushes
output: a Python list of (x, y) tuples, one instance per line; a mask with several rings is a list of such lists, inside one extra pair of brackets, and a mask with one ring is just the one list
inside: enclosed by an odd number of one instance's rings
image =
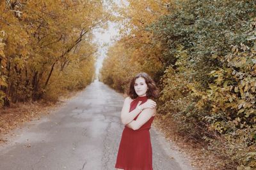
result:
[(120, 22), (122, 38), (109, 49), (102, 67), (103, 81), (120, 91), (124, 91), (132, 74), (145, 71), (154, 76), (164, 64), (161, 43), (152, 41), (153, 34), (146, 28), (167, 13), (167, 8), (163, 8), (166, 2), (131, 0), (128, 3), (119, 8), (115, 6), (119, 12), (115, 18)]

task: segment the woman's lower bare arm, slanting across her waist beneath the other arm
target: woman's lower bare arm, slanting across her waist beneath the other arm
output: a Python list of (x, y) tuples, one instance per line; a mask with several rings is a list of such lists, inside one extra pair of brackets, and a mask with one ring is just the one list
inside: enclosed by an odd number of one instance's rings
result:
[(151, 108), (147, 108), (143, 111), (141, 111), (140, 115), (138, 116), (138, 118), (136, 120), (132, 120), (132, 122), (130, 122), (129, 124), (127, 124), (126, 126), (133, 129), (134, 131), (140, 129), (140, 127), (142, 125), (144, 125), (146, 122), (148, 122), (148, 120), (155, 115), (156, 113), (156, 108), (151, 109)]

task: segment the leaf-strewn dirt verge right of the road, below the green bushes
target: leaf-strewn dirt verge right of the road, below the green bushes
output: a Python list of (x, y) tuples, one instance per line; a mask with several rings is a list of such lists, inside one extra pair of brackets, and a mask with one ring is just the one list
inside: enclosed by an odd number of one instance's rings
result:
[[(175, 122), (172, 122), (172, 120), (167, 118), (164, 119), (163, 115), (157, 114), (152, 125), (156, 127), (157, 131), (160, 131), (163, 134), (166, 141), (170, 143), (170, 148), (177, 150), (177, 153), (182, 154), (184, 161), (188, 161), (193, 168), (220, 170), (217, 166), (217, 162), (221, 162), (221, 160), (215, 157), (211, 152), (207, 151), (207, 149), (204, 148), (205, 146), (191, 143), (188, 138), (177, 134), (175, 132)], [(177, 160), (179, 160), (179, 156), (177, 157)]]

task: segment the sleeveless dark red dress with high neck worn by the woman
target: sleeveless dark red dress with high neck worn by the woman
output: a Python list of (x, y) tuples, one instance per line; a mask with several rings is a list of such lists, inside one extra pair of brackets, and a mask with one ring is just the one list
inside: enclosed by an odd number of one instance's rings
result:
[[(147, 96), (138, 96), (131, 102), (130, 111), (134, 110), (139, 101), (147, 101)], [(139, 114), (140, 115), (140, 114)], [(136, 118), (138, 115), (134, 118)], [(122, 132), (115, 168), (125, 170), (152, 170), (152, 145), (149, 129), (154, 120), (151, 117), (140, 129), (134, 131), (125, 125)]]

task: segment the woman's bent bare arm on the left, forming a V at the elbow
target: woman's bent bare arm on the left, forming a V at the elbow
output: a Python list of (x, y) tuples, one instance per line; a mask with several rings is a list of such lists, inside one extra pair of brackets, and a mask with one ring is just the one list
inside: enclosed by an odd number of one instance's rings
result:
[(129, 124), (129, 122), (131, 122), (141, 112), (138, 107), (129, 112), (131, 101), (131, 97), (126, 97), (124, 99), (124, 105), (121, 111), (121, 122), (124, 125)]

